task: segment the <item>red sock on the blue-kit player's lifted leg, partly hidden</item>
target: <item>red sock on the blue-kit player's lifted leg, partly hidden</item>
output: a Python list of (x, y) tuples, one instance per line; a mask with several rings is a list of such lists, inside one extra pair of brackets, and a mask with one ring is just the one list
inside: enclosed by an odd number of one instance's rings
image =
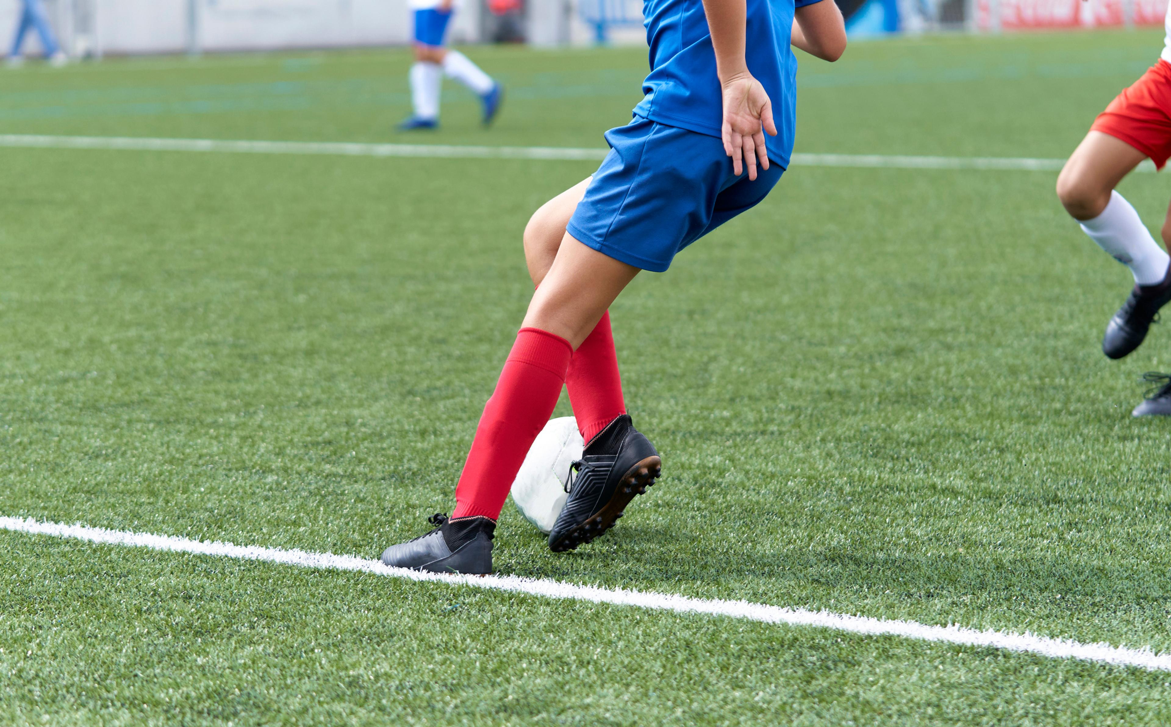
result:
[(616, 417), (626, 413), (609, 310), (574, 351), (566, 375), (566, 386), (569, 389), (574, 417), (577, 418), (577, 428), (587, 444)]

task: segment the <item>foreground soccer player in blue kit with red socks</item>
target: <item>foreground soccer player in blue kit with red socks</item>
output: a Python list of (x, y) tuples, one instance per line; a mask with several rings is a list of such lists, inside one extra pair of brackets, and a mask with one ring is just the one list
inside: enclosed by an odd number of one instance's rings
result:
[(645, 0), (643, 8), (645, 97), (629, 124), (605, 133), (610, 152), (597, 172), (529, 220), (525, 256), (537, 289), (480, 417), (456, 509), (388, 548), (388, 565), (492, 572), (497, 519), (563, 385), (586, 451), (550, 549), (604, 533), (659, 474), (658, 452), (622, 398), (610, 303), (639, 270), (666, 270), (680, 249), (768, 194), (793, 151), (789, 46), (835, 61), (845, 30), (834, 0)]

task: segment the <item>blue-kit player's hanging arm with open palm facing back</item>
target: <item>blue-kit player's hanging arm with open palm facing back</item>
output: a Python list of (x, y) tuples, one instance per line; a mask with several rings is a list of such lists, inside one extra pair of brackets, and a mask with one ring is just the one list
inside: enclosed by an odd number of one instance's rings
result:
[(765, 131), (776, 136), (773, 104), (765, 87), (748, 73), (745, 60), (745, 32), (748, 23), (746, 0), (704, 0), (707, 28), (715, 49), (715, 73), (724, 96), (724, 124), (720, 129), (724, 151), (732, 157), (732, 171), (756, 178), (756, 160), (768, 169)]

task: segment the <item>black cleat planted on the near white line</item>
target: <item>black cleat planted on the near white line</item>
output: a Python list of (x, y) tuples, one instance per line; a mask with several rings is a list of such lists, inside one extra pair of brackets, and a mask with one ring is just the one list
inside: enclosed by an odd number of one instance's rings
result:
[(461, 572), (482, 576), (492, 572), (492, 537), (497, 523), (489, 517), (448, 519), (436, 513), (427, 519), (433, 526), (426, 535), (391, 546), (382, 562), (391, 568)]

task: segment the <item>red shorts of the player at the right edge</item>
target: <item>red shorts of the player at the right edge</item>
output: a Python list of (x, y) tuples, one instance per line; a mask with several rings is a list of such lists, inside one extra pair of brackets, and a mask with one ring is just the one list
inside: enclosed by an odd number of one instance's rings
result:
[(1122, 139), (1163, 169), (1171, 157), (1171, 63), (1160, 60), (1118, 94), (1090, 131)]

